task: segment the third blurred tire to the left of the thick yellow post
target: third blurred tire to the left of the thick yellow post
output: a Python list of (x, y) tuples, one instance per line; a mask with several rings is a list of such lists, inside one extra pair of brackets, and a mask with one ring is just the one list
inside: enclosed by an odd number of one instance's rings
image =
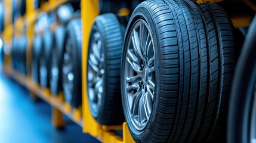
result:
[(39, 78), (42, 88), (50, 87), (50, 63), (51, 63), (51, 48), (53, 48), (53, 33), (46, 30), (42, 35), (42, 52), (39, 57)]

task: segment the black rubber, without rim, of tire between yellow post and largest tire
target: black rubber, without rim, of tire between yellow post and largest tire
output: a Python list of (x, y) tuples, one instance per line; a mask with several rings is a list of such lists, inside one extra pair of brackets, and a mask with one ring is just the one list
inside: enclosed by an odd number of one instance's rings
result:
[[(94, 111), (92, 109), (92, 101), (88, 100), (91, 114), (101, 125), (121, 125), (124, 123), (124, 112), (121, 101), (120, 73), (125, 27), (119, 23), (116, 15), (112, 13), (102, 14), (95, 18), (88, 46), (87, 75), (90, 68), (89, 59), (95, 32), (101, 35), (101, 48), (104, 53), (104, 80), (100, 108)], [(88, 83), (87, 77), (87, 91), (89, 91), (89, 86), (93, 86)], [(90, 97), (89, 94), (90, 92), (88, 92), (88, 99)]]

